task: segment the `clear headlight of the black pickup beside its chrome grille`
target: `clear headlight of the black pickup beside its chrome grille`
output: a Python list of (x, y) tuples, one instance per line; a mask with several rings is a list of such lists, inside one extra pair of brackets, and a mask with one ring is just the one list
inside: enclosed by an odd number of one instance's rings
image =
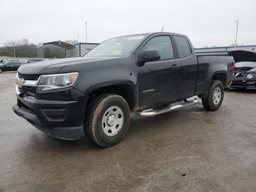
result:
[(78, 72), (51, 74), (40, 76), (37, 91), (47, 91), (72, 86), (78, 77)]

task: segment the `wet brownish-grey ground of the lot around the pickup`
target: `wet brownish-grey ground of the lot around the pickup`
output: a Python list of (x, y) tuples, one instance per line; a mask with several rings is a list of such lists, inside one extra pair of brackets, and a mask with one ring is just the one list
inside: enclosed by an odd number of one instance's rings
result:
[(15, 76), (0, 74), (0, 192), (256, 191), (256, 91), (226, 91), (216, 112), (200, 103), (132, 114), (124, 140), (100, 148), (84, 134), (52, 138), (14, 114)]

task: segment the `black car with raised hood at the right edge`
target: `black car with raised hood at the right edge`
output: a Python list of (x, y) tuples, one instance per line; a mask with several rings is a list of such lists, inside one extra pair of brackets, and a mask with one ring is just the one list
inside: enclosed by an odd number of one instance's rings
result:
[(237, 50), (228, 55), (236, 62), (231, 88), (256, 89), (256, 53)]

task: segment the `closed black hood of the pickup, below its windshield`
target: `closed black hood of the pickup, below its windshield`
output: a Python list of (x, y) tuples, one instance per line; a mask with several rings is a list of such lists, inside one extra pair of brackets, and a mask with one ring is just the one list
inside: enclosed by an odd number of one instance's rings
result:
[(86, 63), (91, 61), (106, 60), (108, 57), (75, 57), (54, 59), (42, 62), (24, 64), (18, 68), (21, 74), (54, 74), (69, 64)]

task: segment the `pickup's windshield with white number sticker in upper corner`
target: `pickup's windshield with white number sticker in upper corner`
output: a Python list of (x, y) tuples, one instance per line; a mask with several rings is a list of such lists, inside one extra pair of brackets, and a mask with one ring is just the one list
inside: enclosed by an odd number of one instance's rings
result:
[(109, 39), (99, 44), (88, 53), (87, 56), (125, 56), (137, 46), (146, 34), (130, 35)]

